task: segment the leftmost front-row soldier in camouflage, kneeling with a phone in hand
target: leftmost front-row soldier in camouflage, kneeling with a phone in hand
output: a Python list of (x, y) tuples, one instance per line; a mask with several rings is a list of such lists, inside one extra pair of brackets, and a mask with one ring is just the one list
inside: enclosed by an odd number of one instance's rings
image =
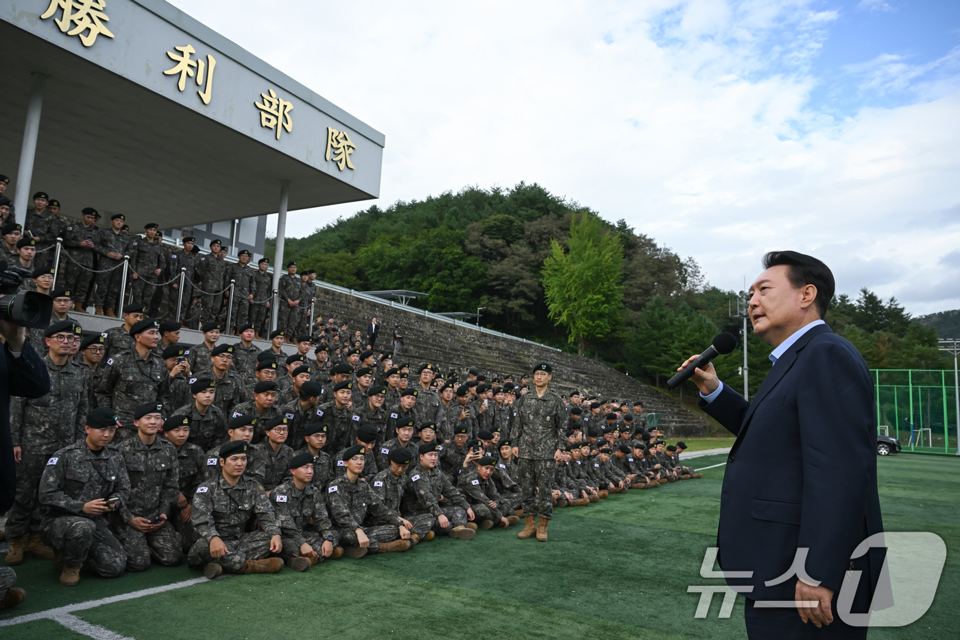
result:
[(123, 455), (108, 447), (117, 428), (116, 414), (101, 406), (85, 420), (84, 440), (60, 449), (47, 460), (39, 501), (46, 507), (42, 537), (62, 563), (60, 584), (75, 586), (85, 567), (103, 578), (119, 578), (127, 552), (108, 527), (107, 515), (130, 499)]

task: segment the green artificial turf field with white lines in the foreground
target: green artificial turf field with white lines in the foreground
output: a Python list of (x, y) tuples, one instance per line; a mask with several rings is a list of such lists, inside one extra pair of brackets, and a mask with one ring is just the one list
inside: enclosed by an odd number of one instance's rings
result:
[[(702, 468), (725, 456), (693, 458)], [(956, 509), (960, 460), (926, 455), (880, 458), (879, 489), (888, 530), (930, 530), (947, 542), (937, 598), (906, 628), (875, 628), (871, 638), (944, 638), (960, 627), (953, 604), (960, 571)], [(550, 540), (517, 540), (517, 528), (479, 531), (471, 541), (441, 538), (406, 554), (329, 561), (298, 574), (237, 576), (148, 599), (78, 611), (84, 621), (139, 640), (340, 638), (689, 638), (745, 637), (743, 600), (718, 619), (694, 619), (707, 547), (715, 542), (724, 467), (653, 490), (614, 495), (596, 505), (558, 509)], [(46, 565), (46, 566), (45, 566)], [(47, 563), (18, 572), (27, 603), (0, 620), (158, 584), (196, 578), (185, 568), (153, 567), (107, 580), (82, 574), (57, 585)], [(4, 615), (5, 614), (5, 615)], [(80, 637), (49, 621), (0, 628), (5, 640)]]

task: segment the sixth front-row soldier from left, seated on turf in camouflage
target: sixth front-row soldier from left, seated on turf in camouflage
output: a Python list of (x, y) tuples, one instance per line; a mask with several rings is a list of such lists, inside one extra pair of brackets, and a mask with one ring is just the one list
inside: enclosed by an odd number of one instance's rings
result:
[(473, 509), (440, 470), (439, 445), (423, 444), (417, 451), (420, 463), (407, 471), (410, 484), (403, 492), (400, 512), (413, 516), (429, 513), (436, 519), (433, 531), (437, 535), (445, 533), (459, 540), (472, 539), (476, 526), (467, 525), (468, 520), (474, 518)]

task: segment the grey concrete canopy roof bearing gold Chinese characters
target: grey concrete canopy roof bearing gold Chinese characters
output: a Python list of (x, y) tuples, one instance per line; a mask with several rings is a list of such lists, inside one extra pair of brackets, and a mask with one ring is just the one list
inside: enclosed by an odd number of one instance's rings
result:
[[(43, 12), (48, 3), (30, 4)], [(382, 134), (165, 2), (112, 0), (107, 11), (116, 36), (84, 48), (77, 37), (61, 34), (53, 19), (18, 21), (23, 7), (0, 10), (0, 173), (12, 179), (32, 73), (48, 76), (32, 185), (14, 181), (7, 195), (43, 190), (73, 217), (84, 207), (106, 218), (124, 213), (134, 233), (147, 222), (176, 228), (276, 212), (283, 180), (291, 182), (290, 210), (379, 195)], [(127, 41), (121, 41), (125, 26)], [(170, 33), (150, 41), (164, 29)], [(192, 81), (178, 93), (176, 76), (160, 73), (174, 64), (166, 52), (188, 42), (198, 59), (217, 57), (209, 106), (190, 90)], [(137, 60), (141, 49), (148, 60)], [(120, 62), (98, 63), (108, 56)], [(141, 79), (135, 74), (144, 67)], [(294, 129), (280, 139), (261, 126), (253, 107), (268, 88), (295, 105)], [(349, 129), (356, 170), (324, 161), (328, 122)]]

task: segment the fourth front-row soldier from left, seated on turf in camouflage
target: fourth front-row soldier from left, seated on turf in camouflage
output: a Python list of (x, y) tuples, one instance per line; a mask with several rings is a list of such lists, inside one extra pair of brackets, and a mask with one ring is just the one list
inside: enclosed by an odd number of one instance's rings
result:
[(306, 571), (328, 557), (340, 557), (343, 549), (326, 512), (325, 490), (312, 483), (314, 457), (298, 454), (289, 465), (290, 477), (276, 486), (271, 501), (283, 544), (280, 556), (294, 571)]

